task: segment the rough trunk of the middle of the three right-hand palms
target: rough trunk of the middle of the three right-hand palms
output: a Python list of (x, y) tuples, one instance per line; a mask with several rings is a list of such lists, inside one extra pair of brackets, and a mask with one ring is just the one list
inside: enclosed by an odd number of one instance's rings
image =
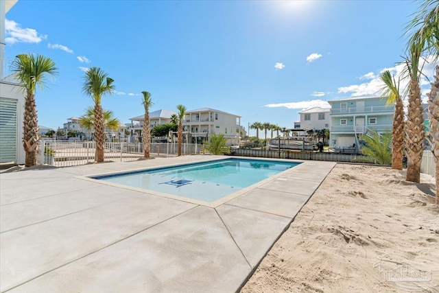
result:
[(410, 81), (409, 104), (407, 106), (407, 174), (405, 180), (419, 183), (420, 162), (423, 158), (424, 117), (418, 80)]

